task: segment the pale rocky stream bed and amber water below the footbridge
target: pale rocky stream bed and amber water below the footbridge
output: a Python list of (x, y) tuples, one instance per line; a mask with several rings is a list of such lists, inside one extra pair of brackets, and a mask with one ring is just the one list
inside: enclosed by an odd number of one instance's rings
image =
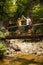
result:
[(24, 39), (6, 40), (6, 57), (0, 59), (0, 65), (43, 65), (43, 40)]

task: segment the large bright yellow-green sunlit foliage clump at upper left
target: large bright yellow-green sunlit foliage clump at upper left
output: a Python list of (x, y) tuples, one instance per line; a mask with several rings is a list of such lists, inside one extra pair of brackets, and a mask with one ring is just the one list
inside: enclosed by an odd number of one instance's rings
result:
[(17, 10), (17, 5), (15, 5), (14, 0), (7, 0), (4, 3), (4, 7), (3, 10), (9, 15), (9, 16), (13, 16), (13, 14), (16, 12)]

